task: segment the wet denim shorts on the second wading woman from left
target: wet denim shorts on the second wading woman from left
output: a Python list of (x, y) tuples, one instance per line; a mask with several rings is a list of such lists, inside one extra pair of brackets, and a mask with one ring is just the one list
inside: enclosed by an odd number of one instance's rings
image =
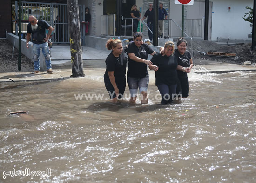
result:
[(148, 82), (149, 76), (148, 74), (144, 78), (134, 78), (127, 76), (127, 83), (129, 86), (131, 97), (136, 97), (138, 93), (138, 88), (140, 93), (142, 91), (148, 91)]

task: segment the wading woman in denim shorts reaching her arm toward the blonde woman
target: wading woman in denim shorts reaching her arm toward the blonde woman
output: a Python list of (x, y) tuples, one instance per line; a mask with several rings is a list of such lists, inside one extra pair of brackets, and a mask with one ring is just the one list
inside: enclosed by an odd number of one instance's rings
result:
[(128, 71), (127, 83), (130, 90), (130, 102), (135, 103), (138, 88), (141, 94), (141, 104), (148, 103), (148, 68), (151, 63), (148, 60), (148, 54), (154, 55), (155, 52), (148, 44), (142, 44), (142, 33), (136, 32), (133, 35), (134, 42), (130, 43), (127, 48), (128, 54)]

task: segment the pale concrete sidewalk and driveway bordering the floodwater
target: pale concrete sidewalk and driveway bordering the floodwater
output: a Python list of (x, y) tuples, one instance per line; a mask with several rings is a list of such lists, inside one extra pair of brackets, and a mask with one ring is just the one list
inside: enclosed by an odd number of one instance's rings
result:
[[(51, 49), (52, 55), (52, 66), (54, 73), (47, 74), (47, 71), (42, 71), (37, 74), (32, 72), (4, 72), (0, 73), (0, 82), (18, 82), (18, 81), (56, 81), (71, 78), (72, 66), (70, 62), (70, 47), (66, 44), (54, 46)], [(110, 51), (97, 50), (90, 47), (83, 46), (83, 69), (84, 74), (87, 76), (103, 76), (105, 73), (106, 65), (105, 59), (107, 58)], [(195, 68), (200, 67), (199, 72), (210, 72), (210, 73), (226, 73), (234, 71), (256, 71), (256, 67), (251, 65), (237, 65), (231, 63), (216, 62), (213, 60), (197, 61), (193, 60)], [(149, 71), (151, 82), (155, 82), (155, 72)], [(151, 83), (150, 82), (150, 83)]]

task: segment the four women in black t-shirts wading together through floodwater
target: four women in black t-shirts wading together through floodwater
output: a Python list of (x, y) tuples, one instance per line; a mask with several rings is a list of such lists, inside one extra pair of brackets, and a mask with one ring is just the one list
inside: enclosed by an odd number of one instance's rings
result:
[[(182, 98), (189, 96), (189, 81), (187, 73), (193, 67), (191, 53), (187, 50), (187, 41), (177, 40), (177, 49), (172, 41), (167, 41), (159, 52), (152, 50), (143, 43), (142, 33), (136, 32), (133, 42), (125, 49), (119, 39), (108, 39), (106, 47), (112, 52), (106, 59), (104, 83), (110, 99), (117, 102), (123, 97), (126, 87), (126, 65), (128, 55), (127, 83), (130, 91), (130, 102), (135, 103), (137, 92), (141, 94), (141, 104), (148, 103), (148, 67), (155, 71), (155, 85), (161, 93), (161, 104), (171, 103), (175, 94)], [(148, 60), (148, 54), (153, 55)], [(180, 96), (176, 95), (176, 96)]]

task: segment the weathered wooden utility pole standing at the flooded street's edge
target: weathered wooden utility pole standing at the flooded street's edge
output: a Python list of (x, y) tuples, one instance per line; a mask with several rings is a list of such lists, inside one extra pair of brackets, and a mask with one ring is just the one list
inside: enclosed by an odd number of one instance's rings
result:
[(83, 77), (83, 59), (78, 12), (78, 0), (67, 0), (69, 42), (72, 64), (72, 77)]

